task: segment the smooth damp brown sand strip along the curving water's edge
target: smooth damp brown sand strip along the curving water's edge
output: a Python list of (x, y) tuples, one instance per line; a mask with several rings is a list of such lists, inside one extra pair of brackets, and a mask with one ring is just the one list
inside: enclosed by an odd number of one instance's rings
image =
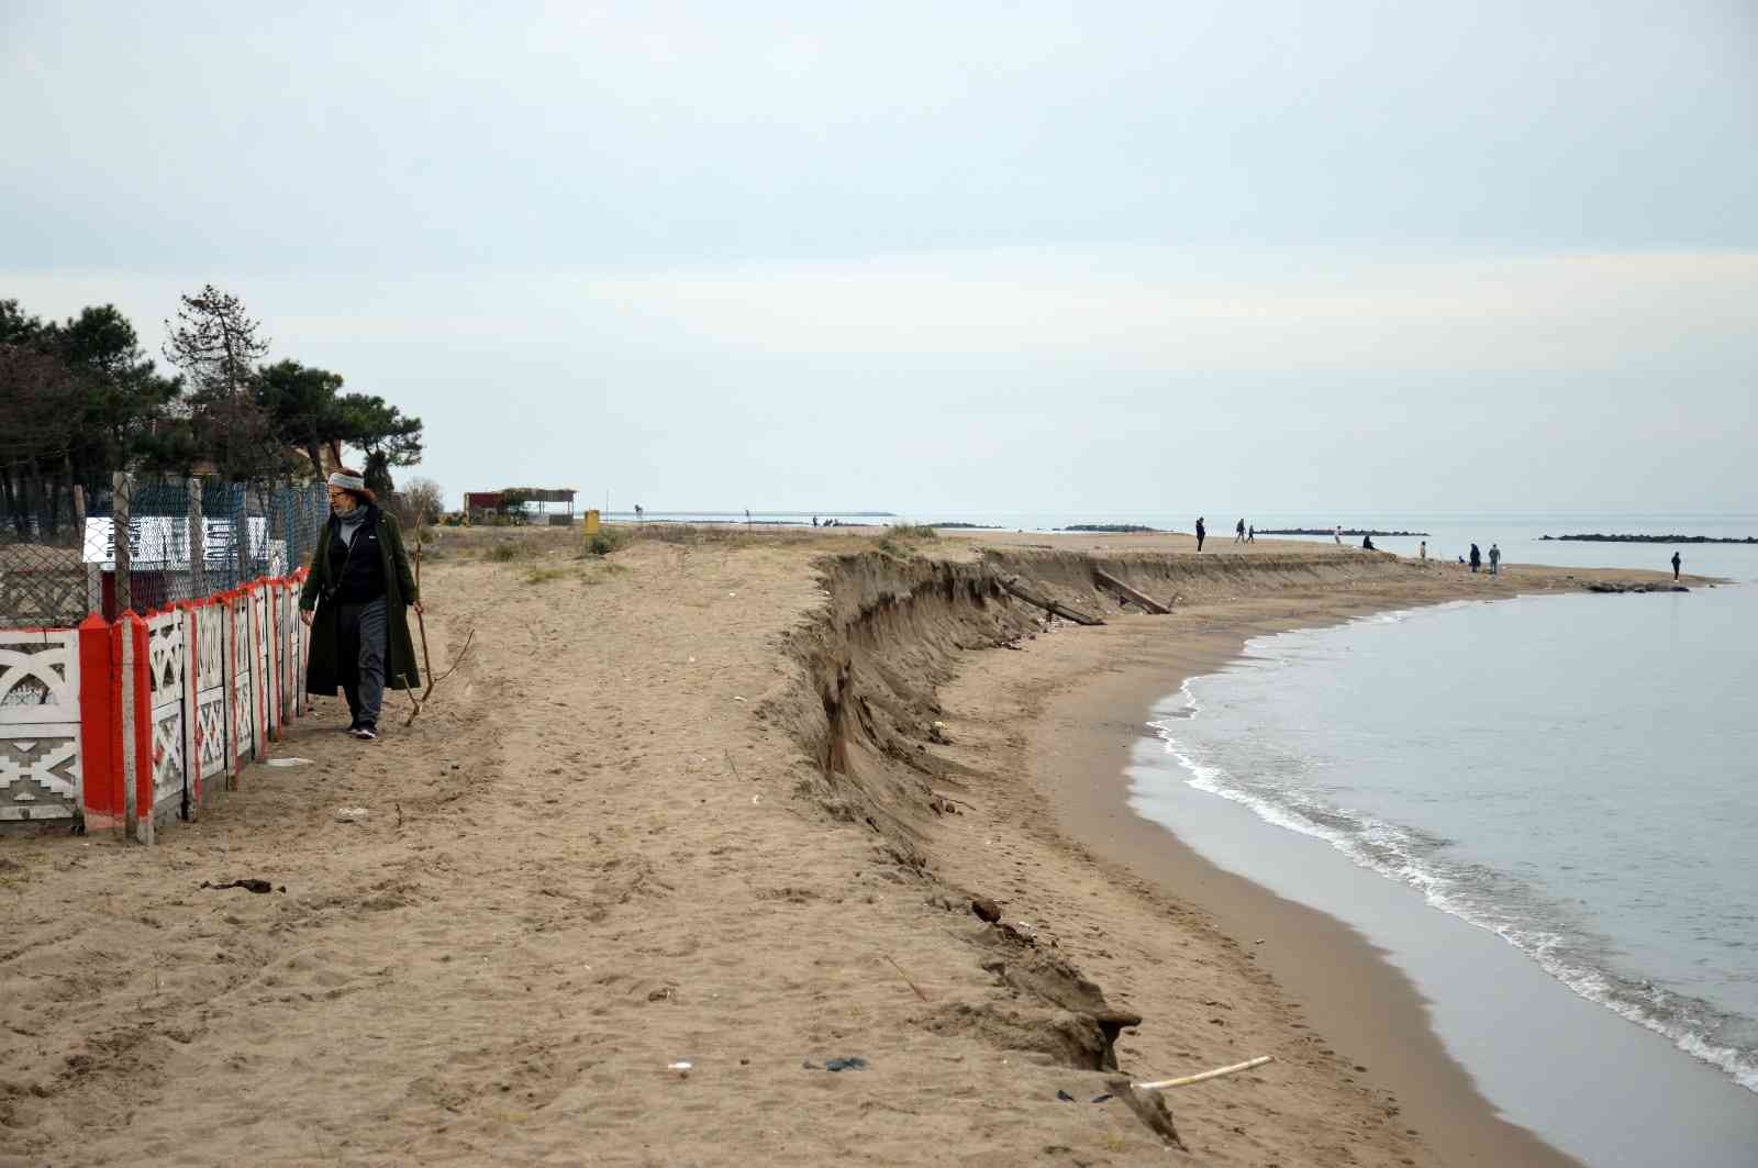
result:
[[(1282, 999), (1264, 1020), (1273, 1041), (1283, 1050), (1304, 1043), (1334, 1052), (1343, 1082), (1364, 1085), (1369, 1106), (1389, 1103), (1387, 1119), (1426, 1145), (1431, 1159), (1422, 1163), (1579, 1164), (1501, 1117), (1384, 950), (1327, 913), (1220, 869), (1129, 806), (1132, 751), (1150, 737), (1153, 707), (1190, 677), (1236, 660), (1252, 637), (1468, 598), (1399, 593), (1232, 600), (1051, 639), (1055, 660), (1028, 683), (1020, 707), (1023, 783), (1042, 800), (1055, 832), (1088, 853), (1090, 864), (1113, 881), (1144, 885), (1155, 897), (1195, 909), (1245, 967), (1268, 975)], [(1111, 985), (1113, 975), (1090, 973)], [(1155, 1011), (1143, 1013), (1151, 1026)], [(1176, 1103), (1188, 1106), (1183, 1098)]]

